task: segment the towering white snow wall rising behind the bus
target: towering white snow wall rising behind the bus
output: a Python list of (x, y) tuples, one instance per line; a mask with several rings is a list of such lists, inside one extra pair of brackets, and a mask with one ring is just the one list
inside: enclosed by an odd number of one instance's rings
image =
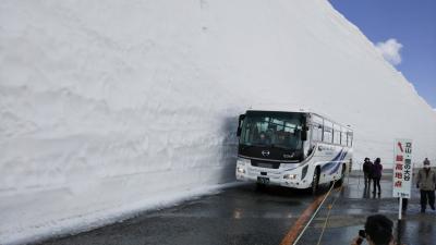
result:
[(354, 159), (436, 115), (325, 0), (0, 2), (0, 244), (100, 225), (233, 182), (237, 117), (312, 108)]

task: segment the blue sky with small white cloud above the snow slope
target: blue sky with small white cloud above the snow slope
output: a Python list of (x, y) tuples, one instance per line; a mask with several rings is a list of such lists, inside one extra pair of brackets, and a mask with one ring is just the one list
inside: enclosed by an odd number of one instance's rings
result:
[(384, 42), (378, 47), (385, 51), (385, 58), (436, 108), (436, 0), (330, 3), (374, 44)]

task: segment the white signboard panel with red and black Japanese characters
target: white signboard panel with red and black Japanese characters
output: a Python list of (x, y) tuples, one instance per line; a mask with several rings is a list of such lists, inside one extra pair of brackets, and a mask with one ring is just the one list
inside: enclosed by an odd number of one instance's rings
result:
[(393, 146), (393, 197), (410, 198), (412, 186), (412, 140), (396, 139)]

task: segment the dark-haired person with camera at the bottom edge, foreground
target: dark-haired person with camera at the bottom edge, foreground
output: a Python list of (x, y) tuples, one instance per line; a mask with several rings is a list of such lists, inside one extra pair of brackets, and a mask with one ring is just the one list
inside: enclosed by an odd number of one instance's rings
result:
[(366, 218), (365, 230), (359, 231), (351, 245), (360, 245), (366, 240), (370, 245), (393, 245), (393, 222), (386, 216), (375, 215)]

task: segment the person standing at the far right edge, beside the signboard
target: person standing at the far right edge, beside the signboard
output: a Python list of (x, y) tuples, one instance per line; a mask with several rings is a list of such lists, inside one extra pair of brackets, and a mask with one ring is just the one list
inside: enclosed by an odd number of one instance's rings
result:
[(429, 161), (425, 158), (424, 168), (417, 172), (416, 187), (421, 191), (421, 212), (425, 212), (427, 199), (429, 207), (435, 210), (436, 172), (429, 168)]

